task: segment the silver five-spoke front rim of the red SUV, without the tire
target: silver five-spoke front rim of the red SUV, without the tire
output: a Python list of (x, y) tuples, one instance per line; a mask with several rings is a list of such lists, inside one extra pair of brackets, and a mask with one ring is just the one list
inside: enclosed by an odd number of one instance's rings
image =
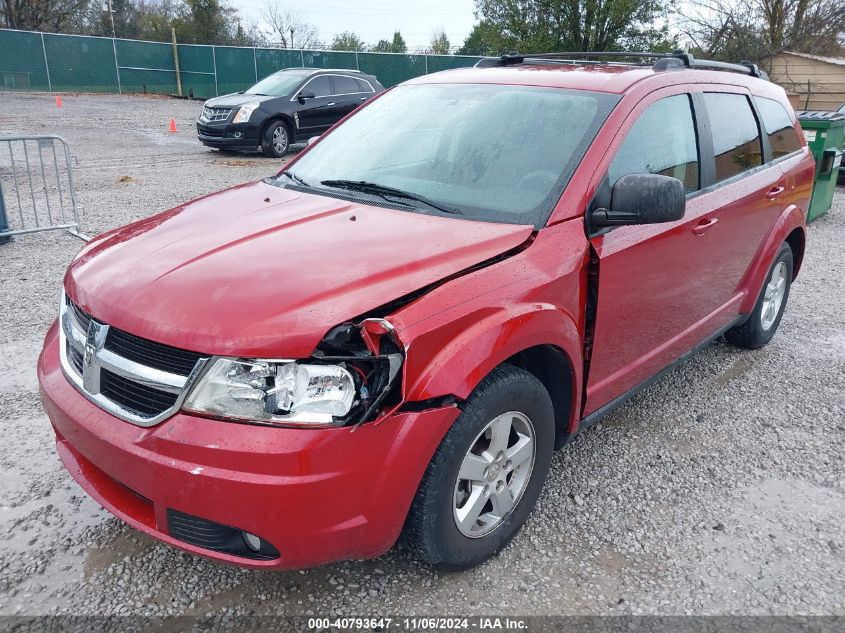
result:
[(501, 525), (528, 487), (535, 452), (534, 425), (523, 413), (503, 413), (484, 427), (455, 482), (453, 514), (461, 534), (479, 538)]

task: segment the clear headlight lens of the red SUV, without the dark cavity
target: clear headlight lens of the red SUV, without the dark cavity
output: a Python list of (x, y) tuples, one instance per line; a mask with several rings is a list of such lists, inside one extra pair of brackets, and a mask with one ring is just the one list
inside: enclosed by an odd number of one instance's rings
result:
[[(343, 364), (217, 358), (183, 409), (284, 426), (332, 426), (366, 398)], [(362, 394), (361, 391), (364, 391)]]

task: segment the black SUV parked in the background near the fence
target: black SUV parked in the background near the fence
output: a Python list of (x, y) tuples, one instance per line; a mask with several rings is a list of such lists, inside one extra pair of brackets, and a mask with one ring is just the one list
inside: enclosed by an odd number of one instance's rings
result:
[(197, 136), (208, 147), (283, 156), (380, 92), (378, 79), (358, 71), (286, 68), (244, 92), (206, 101)]

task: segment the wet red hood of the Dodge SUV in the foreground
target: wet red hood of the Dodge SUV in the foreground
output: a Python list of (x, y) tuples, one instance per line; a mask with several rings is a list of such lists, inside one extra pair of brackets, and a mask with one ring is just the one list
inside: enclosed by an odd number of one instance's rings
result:
[(303, 358), (333, 326), (510, 250), (532, 230), (257, 182), (96, 238), (65, 288), (97, 319), (153, 341)]

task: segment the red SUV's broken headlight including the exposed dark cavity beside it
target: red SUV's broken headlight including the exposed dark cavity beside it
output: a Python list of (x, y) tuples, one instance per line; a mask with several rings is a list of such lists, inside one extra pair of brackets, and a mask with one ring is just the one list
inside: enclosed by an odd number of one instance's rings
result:
[(279, 426), (362, 422), (386, 395), (402, 357), (313, 360), (213, 359), (182, 408)]

